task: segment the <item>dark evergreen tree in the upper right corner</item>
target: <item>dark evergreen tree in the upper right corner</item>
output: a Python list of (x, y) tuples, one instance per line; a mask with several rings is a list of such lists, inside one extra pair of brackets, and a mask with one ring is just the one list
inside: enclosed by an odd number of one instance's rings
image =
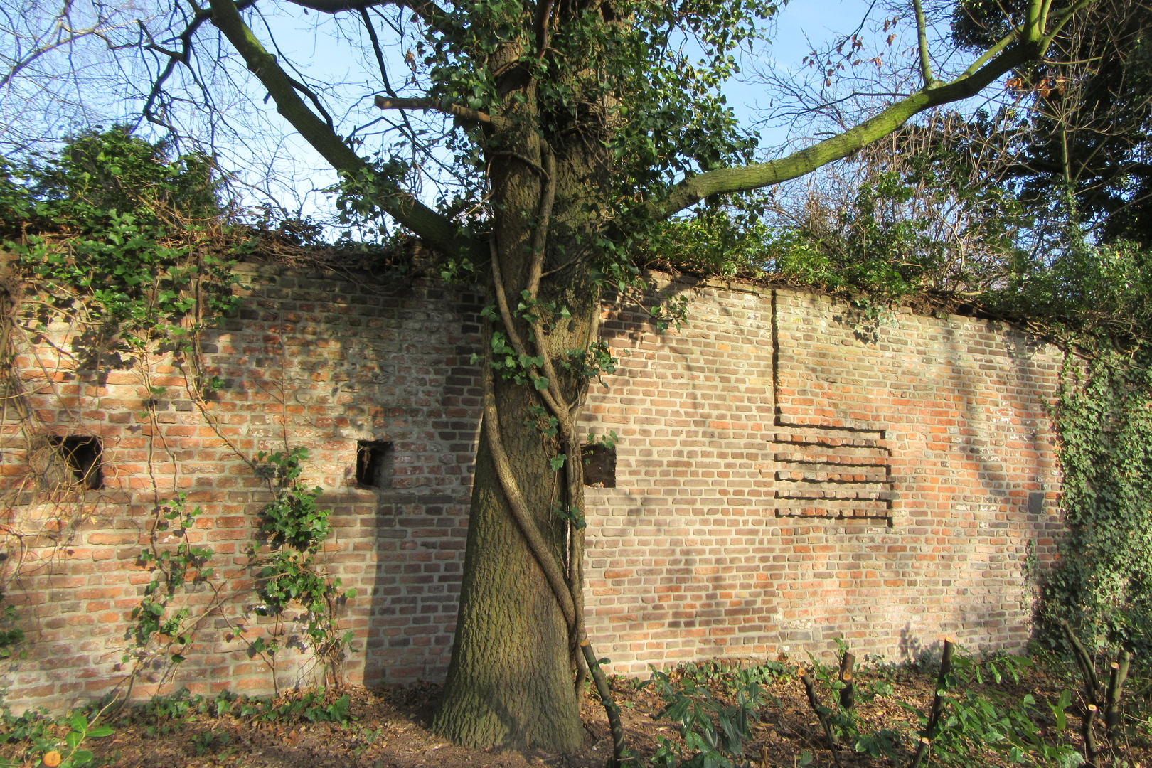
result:
[[(983, 50), (1007, 29), (996, 6), (964, 2), (953, 38)], [(1007, 7), (1022, 13), (1023, 0)], [(1009, 182), (1041, 219), (1073, 212), (1104, 241), (1152, 241), (1152, 7), (1104, 0), (1075, 18), (1039, 66), (1009, 79), (1026, 143)], [(1076, 226), (1079, 226), (1077, 222)]]

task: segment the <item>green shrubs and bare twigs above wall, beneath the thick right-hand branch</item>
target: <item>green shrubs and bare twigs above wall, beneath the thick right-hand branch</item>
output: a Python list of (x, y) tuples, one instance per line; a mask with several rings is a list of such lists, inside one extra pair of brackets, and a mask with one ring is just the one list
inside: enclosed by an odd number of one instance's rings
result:
[(934, 114), (812, 187), (711, 201), (650, 230), (638, 250), (658, 266), (874, 303), (985, 290), (1006, 274), (1028, 226), (1020, 201), (990, 184), (982, 165), (995, 128), (984, 114)]

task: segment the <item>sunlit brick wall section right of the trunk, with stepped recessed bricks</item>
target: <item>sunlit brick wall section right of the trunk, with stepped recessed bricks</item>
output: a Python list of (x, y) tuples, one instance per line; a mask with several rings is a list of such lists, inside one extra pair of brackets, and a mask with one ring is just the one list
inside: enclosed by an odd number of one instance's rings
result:
[(1056, 350), (750, 287), (704, 288), (679, 333), (645, 315), (606, 324), (622, 365), (584, 418), (620, 435), (588, 529), (589, 631), (616, 671), (1026, 642), (1025, 564), (1061, 529)]

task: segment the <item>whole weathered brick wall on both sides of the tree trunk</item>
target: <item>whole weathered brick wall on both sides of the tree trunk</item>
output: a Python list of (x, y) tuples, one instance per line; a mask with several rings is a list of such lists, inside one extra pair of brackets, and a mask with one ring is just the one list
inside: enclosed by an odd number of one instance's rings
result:
[[(0, 421), (6, 601), (28, 632), (6, 661), (8, 701), (63, 707), (126, 686), (149, 695), (273, 689), (250, 641), (247, 567), (267, 482), (260, 451), (306, 447), (333, 534), (323, 567), (355, 588), (348, 679), (441, 679), (463, 567), (479, 426), (482, 297), (438, 283), (242, 265), (240, 313), (197, 356), (158, 348), (113, 365), (67, 353), (77, 328), (17, 334)], [(895, 312), (877, 321), (825, 298), (664, 282), (690, 320), (655, 333), (613, 306), (620, 357), (582, 426), (615, 432), (614, 484), (588, 488), (586, 610), (613, 671), (718, 655), (914, 656), (941, 632), (970, 648), (1028, 638), (1025, 562), (1055, 557), (1059, 473), (1046, 406), (1060, 359), (1018, 330)], [(65, 352), (61, 352), (65, 350)], [(204, 386), (217, 377), (218, 390)], [(99, 440), (99, 488), (60, 447)], [(79, 444), (76, 443), (76, 444)], [(379, 451), (357, 479), (364, 451)], [(598, 456), (612, 461), (613, 454)], [(609, 473), (611, 477), (611, 473)], [(612, 486), (612, 487), (605, 487)], [(135, 664), (130, 637), (158, 504), (203, 514), (212, 609), (187, 660)], [(161, 537), (161, 546), (173, 541)], [(275, 684), (318, 671), (301, 625)], [(124, 657), (129, 659), (126, 662)]]

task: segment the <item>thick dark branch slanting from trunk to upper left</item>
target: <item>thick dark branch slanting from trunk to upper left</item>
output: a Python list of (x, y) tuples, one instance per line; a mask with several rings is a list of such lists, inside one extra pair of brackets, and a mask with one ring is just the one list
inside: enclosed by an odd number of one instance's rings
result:
[[(276, 112), (338, 172), (353, 176), (371, 174), (371, 166), (353, 152), (332, 127), (308, 108), (296, 92), (293, 79), (241, 18), (236, 3), (233, 0), (211, 0), (211, 6), (212, 23), (223, 32), (244, 59), (248, 69), (267, 89), (268, 96), (276, 102)], [(457, 256), (471, 245), (470, 238), (450, 219), (408, 192), (395, 189), (378, 196), (374, 203), (429, 245), (448, 256)]]

